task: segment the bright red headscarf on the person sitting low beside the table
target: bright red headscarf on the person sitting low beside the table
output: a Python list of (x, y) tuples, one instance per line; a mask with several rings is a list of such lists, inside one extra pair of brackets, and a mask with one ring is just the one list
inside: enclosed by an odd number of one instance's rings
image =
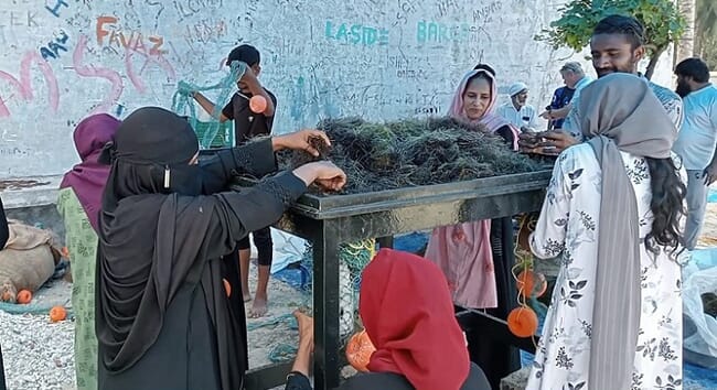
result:
[(370, 371), (403, 375), (416, 390), (458, 390), (465, 382), (465, 339), (438, 266), (382, 249), (363, 272), (358, 312), (376, 347)]

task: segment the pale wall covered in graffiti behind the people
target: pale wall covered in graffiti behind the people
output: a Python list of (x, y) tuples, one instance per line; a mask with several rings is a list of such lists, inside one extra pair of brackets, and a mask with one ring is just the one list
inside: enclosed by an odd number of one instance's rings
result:
[[(211, 85), (239, 43), (263, 55), (275, 130), (325, 117), (442, 115), (478, 62), (544, 107), (571, 53), (533, 35), (548, 0), (13, 0), (0, 3), (0, 178), (54, 175), (78, 158), (74, 126), (171, 107), (178, 80)], [(218, 93), (216, 94), (218, 95)], [(216, 95), (208, 94), (211, 99)]]

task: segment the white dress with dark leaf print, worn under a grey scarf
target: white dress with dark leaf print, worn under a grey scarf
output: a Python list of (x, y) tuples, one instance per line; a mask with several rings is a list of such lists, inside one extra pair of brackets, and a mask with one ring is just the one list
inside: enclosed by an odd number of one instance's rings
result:
[[(653, 219), (650, 171), (644, 159), (621, 154), (636, 194), (644, 242)], [(600, 187), (600, 165), (589, 144), (563, 152), (531, 237), (535, 256), (559, 256), (561, 268), (526, 389), (608, 390), (588, 383)], [(644, 243), (640, 254), (642, 314), (632, 387), (625, 390), (682, 389), (681, 267), (664, 252), (649, 253)]]

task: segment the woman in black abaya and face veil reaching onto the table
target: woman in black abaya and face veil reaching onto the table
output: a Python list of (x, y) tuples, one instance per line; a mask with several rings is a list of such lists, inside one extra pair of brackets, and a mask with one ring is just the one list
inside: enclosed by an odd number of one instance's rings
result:
[(259, 140), (196, 164), (197, 139), (173, 112), (132, 112), (105, 150), (111, 171), (103, 198), (97, 269), (98, 384), (104, 390), (236, 390), (247, 369), (236, 260), (222, 258), (249, 231), (279, 219), (311, 183), (345, 184), (328, 162), (221, 193), (232, 175), (276, 170), (274, 152), (318, 154), (320, 131)]

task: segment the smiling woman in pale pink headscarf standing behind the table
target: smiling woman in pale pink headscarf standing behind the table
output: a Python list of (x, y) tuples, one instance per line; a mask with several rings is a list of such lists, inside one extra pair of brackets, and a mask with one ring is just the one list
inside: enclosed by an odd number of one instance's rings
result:
[[(477, 66), (463, 76), (449, 115), (502, 137), (506, 147), (517, 151), (520, 130), (493, 112), (497, 98), (495, 84), (492, 68)], [(515, 283), (511, 278), (514, 263), (513, 226), (510, 217), (436, 228), (425, 256), (446, 274), (458, 311), (480, 308), (506, 318), (515, 305)], [(501, 378), (520, 369), (516, 348), (497, 345), (478, 333), (469, 332), (467, 337), (471, 360), (483, 369), (494, 388), (497, 388)]]

